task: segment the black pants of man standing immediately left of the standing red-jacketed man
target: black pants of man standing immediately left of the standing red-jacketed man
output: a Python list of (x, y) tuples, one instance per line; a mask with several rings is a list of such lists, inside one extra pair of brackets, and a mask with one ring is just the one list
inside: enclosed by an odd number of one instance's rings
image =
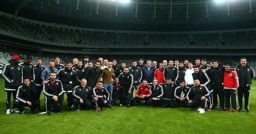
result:
[(213, 89), (213, 92), (212, 92), (213, 106), (218, 105), (218, 96), (219, 96), (220, 106), (221, 108), (224, 108), (225, 99), (224, 99), (223, 85), (212, 85), (212, 89)]

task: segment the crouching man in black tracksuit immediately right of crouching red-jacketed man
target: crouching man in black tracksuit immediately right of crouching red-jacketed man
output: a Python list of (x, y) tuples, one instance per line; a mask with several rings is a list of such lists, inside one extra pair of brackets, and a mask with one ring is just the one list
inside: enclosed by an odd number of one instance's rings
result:
[(164, 90), (161, 85), (158, 84), (158, 79), (153, 79), (153, 85), (151, 86), (151, 95), (148, 104), (153, 104), (153, 106), (162, 106), (160, 99), (164, 95)]

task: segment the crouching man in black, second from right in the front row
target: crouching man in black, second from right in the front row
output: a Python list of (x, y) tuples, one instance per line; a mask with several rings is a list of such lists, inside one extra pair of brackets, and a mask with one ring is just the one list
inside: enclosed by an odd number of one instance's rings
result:
[(188, 104), (187, 94), (190, 88), (185, 85), (186, 83), (185, 80), (181, 80), (179, 82), (180, 82), (180, 86), (176, 87), (174, 92), (174, 96), (176, 97), (175, 101), (178, 106), (182, 105), (183, 107), (186, 107)]

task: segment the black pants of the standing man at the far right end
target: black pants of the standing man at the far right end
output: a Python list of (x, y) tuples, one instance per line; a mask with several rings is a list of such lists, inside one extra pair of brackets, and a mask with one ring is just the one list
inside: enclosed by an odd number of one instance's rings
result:
[(238, 87), (238, 102), (239, 108), (243, 106), (243, 97), (244, 97), (244, 107), (245, 109), (249, 109), (249, 97), (250, 97), (250, 89), (251, 87)]

